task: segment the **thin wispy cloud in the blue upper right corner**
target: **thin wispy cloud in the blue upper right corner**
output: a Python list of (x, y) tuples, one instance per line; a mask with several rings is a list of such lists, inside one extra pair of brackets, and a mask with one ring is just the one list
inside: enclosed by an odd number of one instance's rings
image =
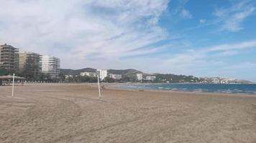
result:
[(223, 22), (222, 29), (234, 32), (243, 29), (242, 22), (252, 15), (255, 9), (252, 1), (240, 1), (229, 8), (216, 9), (214, 15)]

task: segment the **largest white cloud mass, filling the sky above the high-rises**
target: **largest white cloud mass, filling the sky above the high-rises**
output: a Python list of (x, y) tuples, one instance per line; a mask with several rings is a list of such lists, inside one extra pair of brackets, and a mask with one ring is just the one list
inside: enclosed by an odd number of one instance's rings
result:
[(140, 54), (133, 50), (167, 38), (158, 19), (168, 0), (0, 2), (0, 42), (59, 56), (65, 68), (99, 62), (108, 68), (108, 62)]

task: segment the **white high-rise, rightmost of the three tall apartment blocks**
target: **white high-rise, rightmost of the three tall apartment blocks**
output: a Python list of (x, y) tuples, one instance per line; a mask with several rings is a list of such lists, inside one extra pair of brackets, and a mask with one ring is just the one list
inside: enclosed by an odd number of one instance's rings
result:
[(60, 59), (55, 56), (42, 56), (42, 73), (56, 78), (60, 74)]

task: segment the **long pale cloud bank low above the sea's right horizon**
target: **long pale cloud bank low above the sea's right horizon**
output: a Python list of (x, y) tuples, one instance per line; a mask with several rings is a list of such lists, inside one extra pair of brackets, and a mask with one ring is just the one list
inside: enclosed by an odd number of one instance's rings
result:
[[(223, 76), (224, 74), (221, 74), (223, 71), (220, 72), (221, 69), (234, 66), (234, 63), (225, 63), (224, 59), (229, 56), (241, 54), (241, 51), (247, 51), (249, 49), (256, 49), (255, 40), (234, 44), (221, 44), (201, 49), (191, 49), (176, 54), (171, 59), (166, 60), (164, 65), (173, 67), (173, 73), (199, 74), (200, 76)], [(242, 66), (240, 63), (236, 64)], [(244, 70), (246, 70), (246, 68), (248, 67), (244, 66)], [(230, 70), (232, 69), (227, 70), (227, 73)]]

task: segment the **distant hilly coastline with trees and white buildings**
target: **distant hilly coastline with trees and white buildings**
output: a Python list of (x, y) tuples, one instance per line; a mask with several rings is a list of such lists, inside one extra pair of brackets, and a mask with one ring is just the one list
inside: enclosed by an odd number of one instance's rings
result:
[[(60, 73), (66, 77), (65, 82), (88, 82), (93, 81), (97, 69), (60, 69)], [(196, 77), (182, 74), (148, 74), (137, 69), (104, 69), (106, 79), (103, 82), (119, 83), (196, 83), (196, 84), (253, 84), (243, 79), (232, 79), (225, 77)], [(87, 79), (85, 79), (86, 77)], [(91, 80), (90, 80), (91, 78)], [(83, 80), (84, 79), (84, 80)]]

